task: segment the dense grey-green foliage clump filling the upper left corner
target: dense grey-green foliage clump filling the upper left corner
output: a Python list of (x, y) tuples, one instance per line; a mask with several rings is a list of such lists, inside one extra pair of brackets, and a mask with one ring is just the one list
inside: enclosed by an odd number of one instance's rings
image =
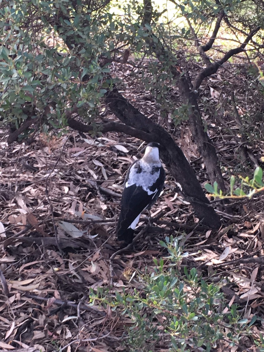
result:
[[(89, 2), (87, 2), (88, 4)], [(0, 116), (15, 125), (32, 118), (42, 128), (65, 125), (65, 112), (83, 106), (91, 118), (106, 87), (101, 56), (113, 50), (112, 15), (75, 1), (1, 4)]]

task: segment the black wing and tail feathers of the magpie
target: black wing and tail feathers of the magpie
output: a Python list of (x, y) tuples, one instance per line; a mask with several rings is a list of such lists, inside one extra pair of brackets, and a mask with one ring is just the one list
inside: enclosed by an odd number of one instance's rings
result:
[[(133, 164), (131, 165), (131, 167)], [(157, 200), (163, 189), (165, 171), (162, 167), (157, 167), (159, 177), (156, 182), (149, 187), (149, 192), (145, 191), (141, 186), (132, 184), (125, 187), (121, 199), (121, 211), (117, 225), (118, 240), (124, 240), (127, 243), (132, 242), (134, 230), (129, 228), (137, 216), (146, 208), (150, 208)], [(128, 171), (126, 181), (129, 178), (130, 170)], [(125, 181), (125, 184), (126, 184)], [(157, 190), (157, 191), (156, 191)], [(151, 194), (149, 194), (152, 192)]]

